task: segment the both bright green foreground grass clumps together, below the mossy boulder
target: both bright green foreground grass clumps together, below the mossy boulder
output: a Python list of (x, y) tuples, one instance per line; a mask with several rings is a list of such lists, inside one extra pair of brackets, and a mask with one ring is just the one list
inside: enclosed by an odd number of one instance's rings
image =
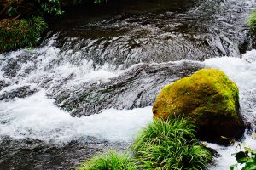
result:
[(194, 123), (187, 118), (154, 120), (138, 134), (130, 155), (109, 152), (85, 161), (77, 169), (203, 169), (212, 154), (199, 144), (195, 133)]

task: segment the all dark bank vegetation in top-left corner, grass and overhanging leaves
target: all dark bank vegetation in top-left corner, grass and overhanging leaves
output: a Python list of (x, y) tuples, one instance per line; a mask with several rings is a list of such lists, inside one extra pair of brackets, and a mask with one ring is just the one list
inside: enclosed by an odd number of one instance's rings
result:
[[(0, 3), (0, 54), (34, 46), (47, 29), (45, 16), (57, 17), (76, 0), (3, 0)], [(102, 3), (96, 0), (95, 3)]]

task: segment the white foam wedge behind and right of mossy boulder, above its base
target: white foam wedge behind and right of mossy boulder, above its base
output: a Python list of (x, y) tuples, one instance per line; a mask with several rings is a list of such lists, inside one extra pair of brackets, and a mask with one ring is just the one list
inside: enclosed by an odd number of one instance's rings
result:
[(218, 68), (236, 82), (240, 94), (241, 115), (246, 122), (256, 120), (256, 50), (247, 52), (242, 58), (222, 57), (208, 59), (207, 67)]

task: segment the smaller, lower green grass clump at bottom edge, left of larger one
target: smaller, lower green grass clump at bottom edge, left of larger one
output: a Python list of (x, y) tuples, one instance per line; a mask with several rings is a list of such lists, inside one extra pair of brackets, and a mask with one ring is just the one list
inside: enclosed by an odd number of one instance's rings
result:
[(119, 154), (114, 151), (95, 156), (85, 161), (77, 170), (136, 170), (132, 157), (127, 153)]

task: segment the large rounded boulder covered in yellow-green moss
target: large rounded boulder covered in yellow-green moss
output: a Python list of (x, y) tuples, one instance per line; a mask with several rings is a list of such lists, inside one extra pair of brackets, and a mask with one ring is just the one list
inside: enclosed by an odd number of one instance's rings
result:
[(223, 71), (201, 69), (167, 85), (154, 101), (154, 118), (189, 116), (199, 127), (201, 139), (221, 136), (238, 139), (244, 131), (239, 115), (239, 91)]

